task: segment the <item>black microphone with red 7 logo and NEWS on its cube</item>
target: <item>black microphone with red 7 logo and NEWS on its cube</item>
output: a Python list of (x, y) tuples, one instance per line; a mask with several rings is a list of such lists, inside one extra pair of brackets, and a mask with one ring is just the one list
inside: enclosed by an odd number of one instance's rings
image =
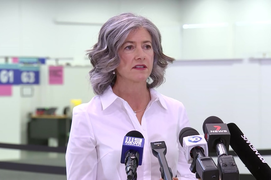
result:
[(227, 124), (216, 116), (208, 117), (203, 123), (203, 132), (210, 152), (218, 155), (218, 169), (221, 180), (239, 180), (239, 170), (232, 155), (228, 155), (230, 131)]

